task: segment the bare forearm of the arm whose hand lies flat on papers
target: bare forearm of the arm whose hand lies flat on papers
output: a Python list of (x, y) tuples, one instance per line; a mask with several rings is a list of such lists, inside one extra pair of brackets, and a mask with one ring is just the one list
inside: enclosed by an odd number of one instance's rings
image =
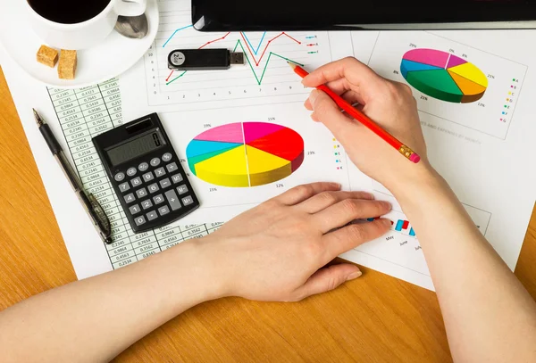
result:
[[(196, 244), (197, 243), (197, 244)], [(200, 241), (71, 283), (0, 313), (4, 362), (109, 361), (182, 311), (219, 296)]]

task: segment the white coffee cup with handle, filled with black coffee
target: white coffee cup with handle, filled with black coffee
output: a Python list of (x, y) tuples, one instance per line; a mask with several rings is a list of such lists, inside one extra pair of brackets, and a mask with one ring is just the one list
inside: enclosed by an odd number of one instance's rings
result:
[[(110, 0), (105, 10), (88, 21), (63, 24), (49, 21), (33, 10), (27, 0), (22, 1), (26, 4), (29, 22), (38, 37), (41, 37), (46, 45), (71, 50), (97, 45), (112, 32), (119, 15), (138, 16), (143, 14), (147, 7), (147, 0)], [(78, 1), (92, 0), (72, 0), (72, 3), (76, 4)]]

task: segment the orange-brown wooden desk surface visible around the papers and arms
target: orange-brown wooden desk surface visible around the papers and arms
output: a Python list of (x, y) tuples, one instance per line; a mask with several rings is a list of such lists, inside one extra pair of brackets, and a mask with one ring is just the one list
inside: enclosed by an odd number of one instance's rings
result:
[[(0, 110), (1, 310), (76, 276), (1, 69)], [(533, 213), (515, 275), (534, 298), (535, 260)], [(116, 361), (451, 361), (435, 293), (363, 270), (364, 277), (297, 303), (207, 302)]]

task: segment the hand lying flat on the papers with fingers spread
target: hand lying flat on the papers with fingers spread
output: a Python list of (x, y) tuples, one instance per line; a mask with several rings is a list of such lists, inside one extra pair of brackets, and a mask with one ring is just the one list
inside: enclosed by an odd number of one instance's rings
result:
[(387, 219), (346, 225), (381, 216), (390, 205), (373, 201), (371, 194), (340, 192), (339, 187), (297, 186), (205, 237), (199, 255), (208, 258), (208, 266), (217, 266), (215, 278), (222, 279), (222, 295), (298, 301), (361, 276), (351, 264), (322, 267), (340, 253), (385, 234), (390, 227)]

